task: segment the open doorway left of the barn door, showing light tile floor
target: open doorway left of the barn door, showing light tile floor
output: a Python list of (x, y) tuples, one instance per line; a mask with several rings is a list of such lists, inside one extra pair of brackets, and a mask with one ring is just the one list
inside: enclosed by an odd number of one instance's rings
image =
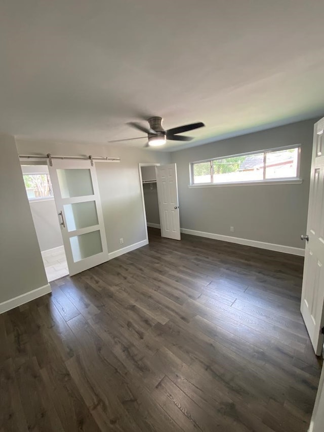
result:
[(22, 175), (49, 282), (69, 274), (47, 165), (21, 164)]

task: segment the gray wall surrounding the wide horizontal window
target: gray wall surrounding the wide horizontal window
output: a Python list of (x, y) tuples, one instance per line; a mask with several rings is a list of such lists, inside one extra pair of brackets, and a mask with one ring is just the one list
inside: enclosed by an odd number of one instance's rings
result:
[[(303, 248), (313, 126), (317, 119), (192, 147), (171, 154), (177, 164), (182, 228)], [(302, 184), (188, 188), (189, 163), (230, 154), (301, 144)], [(234, 232), (230, 232), (234, 226)]]

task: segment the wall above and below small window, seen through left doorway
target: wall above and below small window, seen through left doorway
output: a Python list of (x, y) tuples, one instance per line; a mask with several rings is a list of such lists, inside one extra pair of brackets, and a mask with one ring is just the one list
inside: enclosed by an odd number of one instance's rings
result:
[[(21, 169), (25, 174), (48, 173), (47, 165), (22, 166)], [(44, 201), (29, 201), (29, 205), (41, 251), (62, 246), (63, 239), (54, 198)]]

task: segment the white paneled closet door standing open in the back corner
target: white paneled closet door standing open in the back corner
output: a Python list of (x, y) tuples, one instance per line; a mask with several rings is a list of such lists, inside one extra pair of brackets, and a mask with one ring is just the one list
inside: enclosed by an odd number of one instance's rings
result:
[(176, 164), (159, 165), (156, 170), (161, 237), (180, 240), (180, 216)]

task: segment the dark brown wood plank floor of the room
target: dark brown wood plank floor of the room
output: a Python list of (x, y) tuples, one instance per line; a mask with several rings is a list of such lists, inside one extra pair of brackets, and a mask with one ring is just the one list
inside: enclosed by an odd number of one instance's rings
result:
[(0, 316), (0, 431), (306, 431), (303, 259), (149, 232)]

